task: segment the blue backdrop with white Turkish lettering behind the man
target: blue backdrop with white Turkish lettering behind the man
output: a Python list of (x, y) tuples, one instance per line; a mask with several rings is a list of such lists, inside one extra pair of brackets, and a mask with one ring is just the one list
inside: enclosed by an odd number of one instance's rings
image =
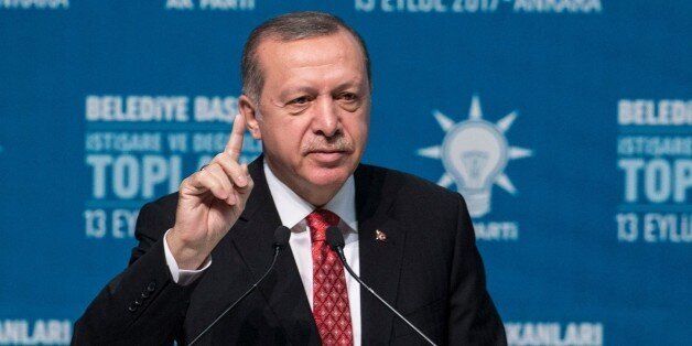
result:
[(510, 344), (692, 343), (690, 1), (3, 0), (0, 344), (68, 342), (295, 10), (365, 37), (365, 161), (469, 201)]

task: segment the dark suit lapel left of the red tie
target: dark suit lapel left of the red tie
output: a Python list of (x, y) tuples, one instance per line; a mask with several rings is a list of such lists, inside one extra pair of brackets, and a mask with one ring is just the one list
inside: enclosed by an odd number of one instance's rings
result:
[[(249, 166), (255, 187), (245, 212), (233, 228), (235, 250), (251, 272), (252, 282), (269, 268), (273, 256), (273, 234), (281, 219), (269, 192), (262, 159)], [(258, 286), (294, 344), (307, 344), (318, 338), (305, 289), (300, 278), (291, 248), (286, 247), (277, 259), (272, 272)]]

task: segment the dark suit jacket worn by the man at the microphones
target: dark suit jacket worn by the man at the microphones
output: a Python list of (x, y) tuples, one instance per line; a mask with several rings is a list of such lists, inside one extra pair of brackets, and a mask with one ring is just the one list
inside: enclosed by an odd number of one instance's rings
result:
[[(245, 212), (212, 252), (212, 267), (187, 286), (172, 281), (161, 240), (174, 224), (177, 194), (144, 205), (129, 267), (76, 322), (73, 344), (188, 343), (240, 296), (269, 267), (281, 224), (262, 158), (249, 171), (256, 185)], [(506, 345), (461, 195), (366, 164), (354, 175), (363, 280), (439, 344)], [(375, 238), (377, 229), (386, 241)], [(424, 344), (365, 290), (360, 309), (364, 345)], [(199, 344), (320, 344), (290, 248)]]

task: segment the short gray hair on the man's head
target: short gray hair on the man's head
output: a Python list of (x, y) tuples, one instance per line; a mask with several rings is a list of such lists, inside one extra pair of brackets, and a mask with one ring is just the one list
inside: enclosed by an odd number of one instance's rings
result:
[(245, 43), (240, 71), (242, 78), (242, 94), (259, 105), (259, 98), (264, 86), (264, 78), (257, 57), (257, 47), (263, 39), (272, 37), (281, 42), (298, 41), (302, 39), (327, 36), (346, 30), (356, 37), (363, 51), (363, 57), (368, 75), (368, 85), (372, 89), (370, 79), (370, 57), (365, 41), (350, 26), (336, 15), (324, 12), (293, 12), (274, 17), (255, 28)]

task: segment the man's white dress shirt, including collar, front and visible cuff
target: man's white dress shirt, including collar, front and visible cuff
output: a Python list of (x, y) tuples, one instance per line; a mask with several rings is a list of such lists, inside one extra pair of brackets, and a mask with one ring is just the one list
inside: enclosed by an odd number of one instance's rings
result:
[[(313, 309), (313, 264), (312, 264), (312, 241), (310, 239), (310, 230), (305, 218), (315, 209), (315, 206), (307, 203), (295, 194), (289, 186), (282, 183), (269, 169), (264, 162), (264, 176), (269, 192), (274, 201), (281, 224), (291, 229), (291, 239), (289, 246), (293, 252), (298, 271), (303, 281), (305, 295)], [(354, 176), (349, 176), (344, 186), (326, 205), (322, 207), (327, 209), (340, 218), (338, 228), (344, 233), (344, 255), (356, 274), (360, 273), (360, 261), (358, 256), (358, 221), (356, 220), (356, 184)], [(166, 231), (167, 234), (167, 231)], [(164, 236), (165, 239), (165, 236)], [(163, 242), (166, 264), (171, 270), (173, 281), (179, 284), (190, 284), (195, 281), (204, 270), (212, 266), (212, 259), (199, 270), (182, 270), (177, 267), (175, 258), (169, 249), (167, 242)], [(346, 288), (348, 290), (348, 305), (350, 307), (350, 321), (354, 333), (354, 345), (360, 346), (360, 285), (344, 269), (346, 275)]]

